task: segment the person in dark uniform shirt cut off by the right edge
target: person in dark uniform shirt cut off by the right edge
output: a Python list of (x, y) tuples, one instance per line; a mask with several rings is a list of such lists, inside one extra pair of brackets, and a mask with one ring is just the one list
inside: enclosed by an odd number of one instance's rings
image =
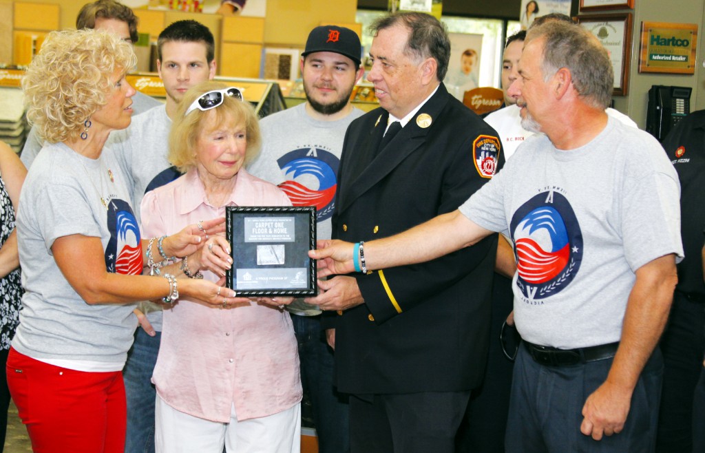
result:
[[(705, 236), (705, 110), (683, 118), (663, 141), (680, 180), (680, 233), (685, 259), (678, 263), (668, 325), (661, 337), (663, 390), (657, 452), (691, 452), (693, 394), (705, 352), (705, 283), (701, 249)], [(702, 423), (702, 421), (700, 421)]]

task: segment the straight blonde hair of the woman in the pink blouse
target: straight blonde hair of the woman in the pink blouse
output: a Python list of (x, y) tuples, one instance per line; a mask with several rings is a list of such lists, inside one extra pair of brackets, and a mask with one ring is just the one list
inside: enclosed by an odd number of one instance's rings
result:
[(201, 82), (186, 92), (181, 99), (173, 124), (169, 134), (169, 154), (168, 160), (176, 166), (182, 173), (186, 173), (196, 165), (196, 141), (201, 130), (204, 128), (216, 129), (228, 120), (235, 123), (245, 123), (245, 135), (247, 136), (247, 148), (245, 149), (245, 161), (243, 165), (252, 162), (259, 154), (259, 147), (262, 144), (262, 136), (259, 133), (259, 120), (255, 109), (249, 102), (239, 101), (233, 97), (226, 96), (223, 104), (201, 111), (196, 108), (188, 116), (184, 116), (193, 101), (200, 98), (207, 92), (216, 89), (225, 89), (228, 85), (222, 82)]

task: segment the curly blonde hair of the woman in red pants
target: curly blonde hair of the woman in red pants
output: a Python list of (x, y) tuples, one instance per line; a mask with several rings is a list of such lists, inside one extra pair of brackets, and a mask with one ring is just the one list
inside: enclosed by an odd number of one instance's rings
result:
[(65, 142), (80, 135), (85, 120), (106, 104), (116, 70), (137, 58), (130, 44), (107, 32), (51, 32), (22, 80), (27, 119), (42, 139)]

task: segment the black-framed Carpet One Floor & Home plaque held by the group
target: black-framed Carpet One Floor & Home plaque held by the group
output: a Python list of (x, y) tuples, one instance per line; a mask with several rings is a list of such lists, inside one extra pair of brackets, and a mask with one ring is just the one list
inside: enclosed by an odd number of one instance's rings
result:
[(243, 297), (318, 294), (316, 261), (308, 256), (316, 247), (314, 206), (228, 206), (225, 219), (228, 288)]

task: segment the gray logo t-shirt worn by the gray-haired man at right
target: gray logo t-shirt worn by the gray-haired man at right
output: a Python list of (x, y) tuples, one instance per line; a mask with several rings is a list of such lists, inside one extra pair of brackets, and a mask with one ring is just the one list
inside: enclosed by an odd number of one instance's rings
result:
[(515, 244), (522, 337), (571, 349), (619, 341), (635, 271), (683, 256), (679, 195), (656, 139), (610, 118), (570, 151), (527, 139), (460, 211)]

